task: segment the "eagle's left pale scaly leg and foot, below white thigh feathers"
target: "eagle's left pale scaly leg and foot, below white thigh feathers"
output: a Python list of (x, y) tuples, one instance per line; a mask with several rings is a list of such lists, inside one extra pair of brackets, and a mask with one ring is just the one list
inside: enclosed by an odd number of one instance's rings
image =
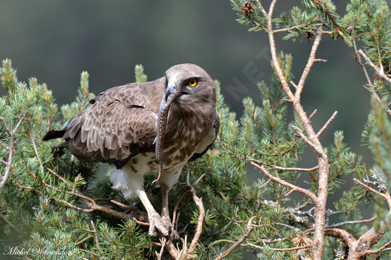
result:
[(150, 200), (147, 197), (147, 194), (144, 190), (139, 189), (136, 191), (138, 198), (140, 198), (141, 202), (143, 203), (145, 209), (148, 213), (148, 219), (150, 221), (150, 229), (148, 231), (148, 234), (150, 236), (153, 236), (155, 227), (163, 234), (163, 236), (168, 236), (169, 229), (167, 228), (166, 221), (163, 220), (159, 214), (156, 212), (156, 210), (153, 208)]

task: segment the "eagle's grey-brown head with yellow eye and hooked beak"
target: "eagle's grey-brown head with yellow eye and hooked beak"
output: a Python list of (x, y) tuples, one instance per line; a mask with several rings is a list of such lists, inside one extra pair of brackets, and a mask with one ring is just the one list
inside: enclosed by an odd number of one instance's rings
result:
[(179, 64), (169, 68), (166, 73), (165, 98), (174, 92), (182, 95), (173, 104), (181, 112), (194, 113), (199, 109), (210, 112), (216, 109), (215, 82), (201, 67), (195, 64)]

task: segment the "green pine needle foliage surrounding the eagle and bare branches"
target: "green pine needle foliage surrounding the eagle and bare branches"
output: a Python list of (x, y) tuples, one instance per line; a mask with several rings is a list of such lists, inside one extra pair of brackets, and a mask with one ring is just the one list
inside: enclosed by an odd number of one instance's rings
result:
[[(330, 0), (300, 0), (303, 6), (293, 7), (286, 13), (275, 14), (273, 28), (284, 33), (283, 39), (311, 40), (323, 26), (333, 39), (341, 37), (349, 46), (359, 40), (365, 53), (377, 66), (390, 63), (391, 19), (382, 0), (351, 0), (347, 14), (341, 18)], [(238, 22), (250, 30), (267, 30), (262, 6), (243, 0), (231, 0), (239, 13)], [(251, 6), (250, 6), (251, 7)], [(353, 29), (354, 28), (354, 35)], [(276, 30), (276, 29), (275, 29)], [(380, 53), (380, 55), (379, 55)], [(293, 60), (289, 54), (280, 53), (278, 63), (287, 82), (293, 80)], [(81, 74), (80, 86), (74, 102), (60, 108), (46, 84), (31, 78), (28, 85), (18, 81), (10, 60), (2, 63), (1, 81), (8, 91), (0, 99), (0, 117), (14, 128), (28, 108), (25, 119), (16, 134), (17, 142), (13, 164), (6, 185), (0, 192), (0, 232), (5, 241), (13, 241), (24, 248), (38, 246), (43, 250), (66, 252), (66, 255), (50, 256), (34, 252), (31, 259), (154, 259), (160, 247), (158, 238), (148, 235), (148, 227), (118, 214), (127, 211), (144, 211), (137, 200), (125, 200), (122, 194), (111, 188), (110, 170), (102, 176), (99, 163), (86, 163), (61, 149), (51, 149), (58, 140), (43, 142), (49, 129), (61, 128), (79, 111), (89, 106), (94, 97), (88, 90), (88, 73)], [(135, 66), (135, 81), (145, 82), (142, 65)], [(386, 73), (387, 74), (387, 73)], [(308, 259), (308, 250), (280, 252), (275, 248), (307, 245), (311, 241), (314, 205), (312, 200), (292, 193), (291, 189), (269, 181), (263, 174), (253, 183), (247, 174), (254, 171), (250, 162), (282, 180), (306, 188), (316, 194), (318, 170), (301, 171), (305, 142), (291, 133), (295, 125), (304, 131), (297, 115), (289, 116), (287, 96), (276, 73), (269, 81), (258, 82), (259, 93), (243, 100), (243, 115), (230, 111), (217, 87), (217, 112), (220, 131), (212, 148), (195, 162), (184, 167), (178, 184), (170, 192), (170, 213), (177, 205), (176, 229), (188, 241), (195, 235), (199, 209), (186, 194), (178, 202), (187, 186), (195, 183), (195, 192), (202, 198), (205, 221), (195, 254), (198, 259), (214, 259), (243, 236), (247, 222), (253, 216), (253, 229), (240, 245), (241, 250), (252, 253), (258, 259), (296, 260)], [(294, 86), (291, 86), (292, 88)], [(362, 220), (369, 209), (374, 208), (377, 218), (375, 230), (390, 229), (387, 208), (380, 196), (375, 196), (360, 185), (347, 185), (347, 180), (363, 181), (370, 187), (385, 192), (391, 188), (391, 121), (387, 114), (391, 86), (383, 80), (367, 86), (373, 98), (372, 111), (363, 132), (363, 143), (373, 155), (375, 165), (368, 167), (362, 157), (353, 153), (344, 142), (344, 133), (335, 131), (334, 141), (325, 151), (329, 159), (329, 194), (337, 199), (327, 205), (326, 224), (348, 220)], [(261, 104), (261, 105), (257, 105)], [(9, 142), (4, 124), (0, 124), (2, 144)], [(0, 149), (1, 160), (8, 156)], [(4, 169), (5, 166), (1, 166)], [(289, 168), (294, 168), (289, 169)], [(258, 169), (257, 169), (258, 172)], [(146, 191), (156, 210), (161, 208), (161, 190), (152, 184), (155, 176), (146, 176)], [(287, 196), (288, 195), (288, 196)], [(112, 203), (112, 200), (117, 202)], [(131, 205), (125, 206), (125, 205)], [(97, 210), (96, 205), (103, 210)], [(368, 227), (363, 224), (346, 224), (343, 227), (358, 238)], [(390, 240), (386, 232), (373, 248), (379, 248)], [(4, 241), (1, 240), (1, 241)], [(189, 246), (189, 245), (188, 245)], [(344, 244), (334, 237), (326, 237), (324, 259), (342, 259)], [(181, 248), (180, 242), (178, 247)], [(182, 245), (183, 247), (183, 245)], [(230, 259), (242, 259), (240, 252), (229, 255)], [(342, 258), (341, 258), (342, 255)], [(387, 259), (389, 253), (377, 254)], [(165, 251), (163, 259), (168, 259)]]

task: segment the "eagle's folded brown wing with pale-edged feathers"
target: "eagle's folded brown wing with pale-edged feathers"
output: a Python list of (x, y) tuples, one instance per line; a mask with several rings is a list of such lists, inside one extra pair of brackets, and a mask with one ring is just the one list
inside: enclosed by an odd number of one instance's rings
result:
[(68, 122), (63, 140), (84, 160), (121, 168), (140, 152), (154, 151), (156, 121), (164, 78), (111, 88)]

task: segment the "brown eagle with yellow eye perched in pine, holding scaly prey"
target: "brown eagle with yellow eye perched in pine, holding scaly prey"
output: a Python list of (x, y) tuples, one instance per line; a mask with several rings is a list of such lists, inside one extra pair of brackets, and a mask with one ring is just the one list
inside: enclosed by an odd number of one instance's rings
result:
[[(113, 188), (125, 199), (138, 196), (148, 213), (149, 234), (157, 228), (169, 235), (168, 193), (183, 165), (202, 156), (218, 134), (214, 81), (195, 64), (179, 64), (162, 78), (110, 88), (89, 103), (43, 140), (62, 138), (62, 146), (80, 160), (113, 164)], [(161, 215), (144, 191), (144, 175), (159, 169)]]

